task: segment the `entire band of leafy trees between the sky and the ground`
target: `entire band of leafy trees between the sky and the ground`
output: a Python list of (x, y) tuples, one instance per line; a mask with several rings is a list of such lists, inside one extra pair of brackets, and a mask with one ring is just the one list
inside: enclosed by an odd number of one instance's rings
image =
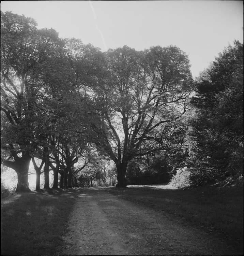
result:
[[(16, 191), (163, 183), (188, 166), (194, 184), (243, 174), (243, 44), (196, 81), (176, 46), (101, 52), (32, 18), (1, 12), (1, 164)], [(103, 159), (114, 168), (103, 167)], [(77, 165), (81, 162), (80, 165)]]

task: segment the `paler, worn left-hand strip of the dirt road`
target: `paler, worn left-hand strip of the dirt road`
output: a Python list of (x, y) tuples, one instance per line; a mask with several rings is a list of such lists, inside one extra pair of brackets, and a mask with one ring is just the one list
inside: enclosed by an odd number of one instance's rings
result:
[(63, 238), (67, 246), (60, 255), (125, 255), (126, 246), (94, 196), (79, 195)]

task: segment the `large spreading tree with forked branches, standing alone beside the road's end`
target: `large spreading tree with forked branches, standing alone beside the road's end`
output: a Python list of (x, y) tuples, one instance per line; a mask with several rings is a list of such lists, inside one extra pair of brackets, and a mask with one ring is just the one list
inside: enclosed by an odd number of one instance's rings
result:
[(106, 60), (108, 76), (92, 88), (88, 122), (98, 150), (116, 164), (117, 186), (126, 187), (130, 160), (166, 148), (162, 131), (186, 111), (192, 75), (176, 46), (144, 52), (124, 46), (108, 50)]

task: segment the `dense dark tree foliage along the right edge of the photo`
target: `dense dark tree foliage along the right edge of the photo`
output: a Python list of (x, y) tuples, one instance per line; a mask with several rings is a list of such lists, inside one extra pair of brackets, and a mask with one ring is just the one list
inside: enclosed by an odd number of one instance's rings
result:
[(228, 46), (196, 83), (190, 124), (197, 184), (243, 173), (243, 44)]

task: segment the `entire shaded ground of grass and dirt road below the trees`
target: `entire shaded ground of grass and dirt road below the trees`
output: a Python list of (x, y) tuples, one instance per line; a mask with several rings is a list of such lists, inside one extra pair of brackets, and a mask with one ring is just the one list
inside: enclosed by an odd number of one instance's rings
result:
[(2, 255), (243, 254), (242, 185), (162, 187), (42, 190), (4, 198)]

